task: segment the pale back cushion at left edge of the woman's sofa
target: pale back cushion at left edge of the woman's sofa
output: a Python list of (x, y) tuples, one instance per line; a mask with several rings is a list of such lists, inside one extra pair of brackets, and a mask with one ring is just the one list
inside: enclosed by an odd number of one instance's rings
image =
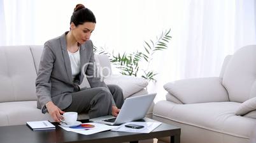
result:
[(29, 46), (0, 47), (0, 102), (36, 100), (36, 70)]

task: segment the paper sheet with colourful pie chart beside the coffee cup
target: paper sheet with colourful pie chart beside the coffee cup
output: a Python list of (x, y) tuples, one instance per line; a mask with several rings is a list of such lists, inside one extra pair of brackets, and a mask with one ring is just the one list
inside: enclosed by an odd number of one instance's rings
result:
[(76, 132), (78, 134), (83, 134), (83, 135), (95, 134), (98, 132), (103, 132), (105, 130), (111, 130), (113, 128), (119, 127), (119, 126), (104, 125), (101, 123), (82, 123), (82, 125), (83, 124), (94, 125), (94, 127), (93, 128), (69, 128), (69, 127), (64, 127), (62, 125), (59, 125), (59, 127), (63, 128), (68, 132)]

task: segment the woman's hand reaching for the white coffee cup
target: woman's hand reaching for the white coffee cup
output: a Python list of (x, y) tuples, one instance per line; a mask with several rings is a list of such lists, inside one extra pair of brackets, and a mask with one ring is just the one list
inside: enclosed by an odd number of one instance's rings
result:
[(61, 116), (60, 114), (63, 114), (65, 112), (57, 106), (55, 106), (55, 104), (53, 104), (52, 101), (46, 103), (45, 106), (48, 110), (48, 113), (52, 116), (54, 121), (60, 122), (60, 120), (63, 120), (63, 116)]

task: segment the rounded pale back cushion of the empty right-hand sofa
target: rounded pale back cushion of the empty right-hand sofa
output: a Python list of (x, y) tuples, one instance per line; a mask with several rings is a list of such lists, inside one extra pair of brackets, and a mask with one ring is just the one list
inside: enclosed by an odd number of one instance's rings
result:
[(256, 79), (256, 46), (245, 46), (230, 59), (223, 77), (223, 85), (230, 101), (243, 103), (250, 99), (252, 85)]

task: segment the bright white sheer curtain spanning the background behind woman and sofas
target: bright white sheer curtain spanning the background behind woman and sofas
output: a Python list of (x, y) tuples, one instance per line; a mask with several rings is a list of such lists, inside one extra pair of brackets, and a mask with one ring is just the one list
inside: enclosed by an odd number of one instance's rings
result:
[(76, 4), (96, 15), (92, 41), (109, 51), (143, 50), (143, 40), (171, 28), (169, 49), (155, 54), (157, 83), (148, 90), (165, 98), (173, 80), (218, 76), (227, 54), (256, 44), (254, 0), (0, 0), (0, 46), (42, 45), (69, 30)]

